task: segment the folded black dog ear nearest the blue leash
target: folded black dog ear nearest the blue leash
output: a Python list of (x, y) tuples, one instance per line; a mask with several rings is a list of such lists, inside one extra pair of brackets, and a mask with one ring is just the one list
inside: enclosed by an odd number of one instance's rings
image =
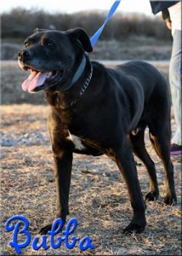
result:
[(67, 33), (69, 37), (79, 40), (79, 42), (82, 44), (82, 49), (87, 52), (93, 51), (92, 44), (90, 43), (90, 39), (88, 37), (88, 33), (85, 32), (82, 28), (77, 27), (74, 29), (70, 29), (67, 31)]

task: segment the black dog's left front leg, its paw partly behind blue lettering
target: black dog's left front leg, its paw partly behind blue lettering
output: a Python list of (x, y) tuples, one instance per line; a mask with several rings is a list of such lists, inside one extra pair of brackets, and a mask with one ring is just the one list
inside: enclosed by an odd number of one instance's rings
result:
[[(72, 167), (72, 152), (62, 152), (54, 154), (54, 178), (56, 184), (56, 201), (57, 211), (56, 218), (62, 218), (63, 225), (65, 224), (66, 215), (69, 213), (68, 200), (71, 183), (71, 167)], [(47, 234), (51, 230), (52, 224), (48, 224), (40, 230), (40, 234)]]

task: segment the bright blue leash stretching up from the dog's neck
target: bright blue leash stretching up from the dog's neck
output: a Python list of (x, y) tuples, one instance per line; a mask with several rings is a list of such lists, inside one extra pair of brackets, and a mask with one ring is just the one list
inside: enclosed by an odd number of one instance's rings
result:
[(114, 13), (116, 12), (117, 7), (120, 4), (120, 2), (121, 2), (121, 0), (116, 0), (115, 3), (112, 4), (110, 11), (109, 11), (108, 15), (105, 18), (105, 22), (103, 23), (102, 26), (100, 26), (98, 31), (94, 33), (92, 38), (90, 38), (90, 42), (92, 44), (92, 47), (94, 47), (94, 44), (97, 42), (98, 38), (100, 38), (100, 34), (103, 31), (103, 29), (105, 27), (105, 24), (107, 23), (107, 21), (109, 21), (111, 19), (111, 16), (114, 15)]

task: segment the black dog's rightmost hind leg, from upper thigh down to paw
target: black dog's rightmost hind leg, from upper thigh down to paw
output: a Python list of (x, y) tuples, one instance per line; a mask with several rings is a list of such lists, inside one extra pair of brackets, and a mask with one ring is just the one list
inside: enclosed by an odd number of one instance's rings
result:
[(164, 202), (168, 205), (172, 205), (177, 201), (173, 180), (173, 164), (170, 160), (170, 110), (168, 85), (166, 84), (166, 81), (159, 76), (155, 93), (153, 92), (151, 102), (145, 109), (145, 121), (149, 127), (149, 136), (153, 148), (156, 150), (156, 154), (158, 154), (164, 166), (166, 184)]

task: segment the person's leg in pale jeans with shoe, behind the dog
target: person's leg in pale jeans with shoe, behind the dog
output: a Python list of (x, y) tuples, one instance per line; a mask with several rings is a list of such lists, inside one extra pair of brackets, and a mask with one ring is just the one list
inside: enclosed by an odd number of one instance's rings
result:
[[(181, 139), (181, 54), (182, 54), (182, 47), (181, 47), (181, 31), (175, 30), (173, 34), (173, 49), (171, 55), (171, 61), (169, 66), (169, 84), (171, 89), (171, 96), (172, 96), (172, 103), (173, 103), (173, 113), (174, 119), (177, 125), (177, 129), (173, 134), (171, 142), (182, 146), (182, 139)], [(178, 149), (179, 148), (179, 149)], [(177, 152), (178, 151), (178, 152)], [(177, 147), (177, 149), (173, 149), (171, 154), (181, 154), (182, 147)]]

